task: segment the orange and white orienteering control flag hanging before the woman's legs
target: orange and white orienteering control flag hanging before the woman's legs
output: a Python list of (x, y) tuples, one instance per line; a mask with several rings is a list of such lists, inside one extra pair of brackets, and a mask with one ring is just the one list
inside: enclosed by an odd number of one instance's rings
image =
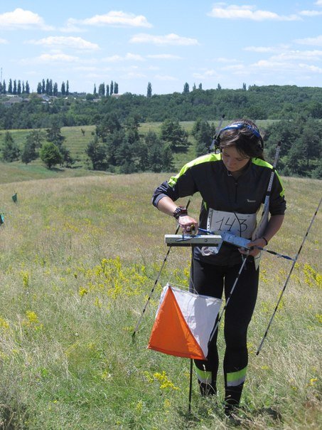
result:
[(221, 299), (167, 284), (161, 293), (148, 348), (176, 357), (206, 360)]

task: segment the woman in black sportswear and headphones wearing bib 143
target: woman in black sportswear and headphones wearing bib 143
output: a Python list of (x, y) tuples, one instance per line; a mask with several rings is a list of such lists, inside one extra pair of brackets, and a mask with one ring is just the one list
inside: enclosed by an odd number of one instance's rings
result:
[[(256, 214), (264, 202), (272, 173), (263, 158), (263, 140), (254, 122), (236, 120), (220, 130), (217, 137), (220, 154), (207, 154), (188, 162), (175, 177), (158, 187), (153, 204), (174, 216), (183, 233), (207, 229), (243, 238), (252, 238)], [(199, 221), (174, 201), (200, 192), (202, 204)], [(270, 219), (262, 237), (249, 243), (246, 252), (228, 243), (218, 248), (193, 247), (190, 290), (221, 298), (230, 294), (242, 259), (247, 258), (237, 286), (225, 310), (225, 413), (230, 415), (240, 403), (247, 372), (247, 327), (257, 299), (259, 280), (256, 246), (264, 248), (280, 229), (286, 201), (278, 174), (274, 175), (269, 199)], [(245, 256), (245, 254), (247, 254)], [(218, 330), (209, 345), (206, 361), (195, 360), (195, 372), (203, 395), (216, 394), (218, 373)]]

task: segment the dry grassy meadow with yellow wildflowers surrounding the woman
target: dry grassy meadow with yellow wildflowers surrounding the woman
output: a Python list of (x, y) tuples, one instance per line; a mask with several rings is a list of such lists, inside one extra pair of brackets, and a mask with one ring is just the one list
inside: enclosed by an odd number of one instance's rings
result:
[[(2, 176), (1, 170), (0, 428), (230, 428), (222, 413), (222, 370), (217, 399), (200, 398), (193, 381), (188, 414), (189, 360), (146, 349), (161, 285), (187, 285), (188, 248), (171, 250), (132, 340), (167, 251), (163, 235), (176, 228), (150, 204), (167, 175), (20, 182)], [(321, 182), (284, 178), (284, 184), (286, 221), (270, 248), (294, 256)], [(195, 196), (190, 213), (199, 206)], [(241, 428), (322, 425), (321, 212), (256, 356), (290, 268), (288, 261), (263, 256)], [(222, 360), (222, 330), (219, 337)]]

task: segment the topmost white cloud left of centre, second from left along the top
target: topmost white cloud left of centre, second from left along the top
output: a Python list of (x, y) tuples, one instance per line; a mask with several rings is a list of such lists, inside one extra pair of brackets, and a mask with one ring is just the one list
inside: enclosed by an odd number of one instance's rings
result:
[(127, 14), (122, 11), (110, 11), (108, 14), (95, 15), (82, 21), (69, 19), (69, 24), (81, 23), (87, 26), (127, 26), (151, 28), (146, 17), (143, 15)]

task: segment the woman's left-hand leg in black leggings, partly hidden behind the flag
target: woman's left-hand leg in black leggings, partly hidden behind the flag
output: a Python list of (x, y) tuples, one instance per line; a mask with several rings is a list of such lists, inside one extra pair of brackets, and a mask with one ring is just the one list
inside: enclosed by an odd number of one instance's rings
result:
[[(223, 290), (222, 268), (193, 260), (190, 273), (190, 291), (221, 298)], [(218, 332), (218, 330), (217, 330)], [(203, 395), (216, 394), (218, 373), (217, 332), (208, 345), (207, 360), (194, 360), (200, 392)]]

